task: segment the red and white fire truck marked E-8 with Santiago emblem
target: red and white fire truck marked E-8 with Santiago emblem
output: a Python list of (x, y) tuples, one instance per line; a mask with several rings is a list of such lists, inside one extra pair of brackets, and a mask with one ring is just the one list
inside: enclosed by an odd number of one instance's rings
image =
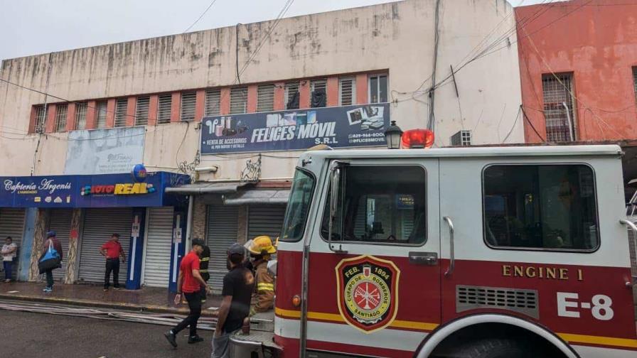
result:
[(619, 146), (308, 151), (235, 352), (637, 357), (623, 195)]

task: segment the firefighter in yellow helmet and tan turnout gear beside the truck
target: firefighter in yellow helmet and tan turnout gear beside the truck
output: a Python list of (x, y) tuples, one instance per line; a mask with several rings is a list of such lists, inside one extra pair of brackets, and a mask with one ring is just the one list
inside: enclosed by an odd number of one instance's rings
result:
[(255, 272), (257, 284), (255, 285), (256, 303), (250, 308), (250, 315), (272, 310), (274, 307), (274, 277), (267, 270), (267, 263), (272, 254), (276, 254), (277, 248), (269, 236), (259, 236), (245, 244), (250, 251), (252, 267)]

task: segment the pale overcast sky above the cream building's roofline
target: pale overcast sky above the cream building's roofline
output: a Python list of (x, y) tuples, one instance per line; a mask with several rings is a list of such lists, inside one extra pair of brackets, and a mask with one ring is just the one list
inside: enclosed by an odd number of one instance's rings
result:
[[(211, 1), (0, 0), (0, 60), (182, 33)], [(286, 1), (216, 0), (190, 31), (274, 19)], [(296, 0), (285, 16), (386, 2), (392, 0)]]

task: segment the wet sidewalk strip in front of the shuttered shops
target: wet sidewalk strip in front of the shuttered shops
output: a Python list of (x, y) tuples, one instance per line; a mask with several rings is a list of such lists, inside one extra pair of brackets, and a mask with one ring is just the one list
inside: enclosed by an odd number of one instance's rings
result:
[[(97, 285), (64, 285), (55, 283), (53, 292), (44, 293), (43, 283), (12, 282), (0, 283), (0, 299), (26, 300), (31, 302), (55, 303), (63, 305), (81, 305), (97, 308), (112, 308), (116, 310), (137, 310), (156, 313), (188, 314), (188, 305), (182, 304), (176, 307), (173, 303), (174, 293), (169, 293), (168, 288), (147, 287), (129, 291), (121, 289), (116, 291), (102, 291), (102, 286)], [(203, 305), (202, 315), (208, 315), (210, 307), (219, 307), (220, 296), (209, 296)]]

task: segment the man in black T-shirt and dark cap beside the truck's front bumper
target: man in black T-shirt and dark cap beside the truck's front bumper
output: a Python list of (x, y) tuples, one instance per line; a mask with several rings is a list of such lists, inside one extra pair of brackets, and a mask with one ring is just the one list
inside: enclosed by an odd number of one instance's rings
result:
[(250, 298), (255, 288), (255, 276), (243, 264), (245, 248), (238, 243), (228, 249), (228, 273), (223, 278), (223, 300), (217, 310), (217, 326), (213, 336), (211, 358), (228, 358), (230, 336), (244, 325), (250, 313)]

